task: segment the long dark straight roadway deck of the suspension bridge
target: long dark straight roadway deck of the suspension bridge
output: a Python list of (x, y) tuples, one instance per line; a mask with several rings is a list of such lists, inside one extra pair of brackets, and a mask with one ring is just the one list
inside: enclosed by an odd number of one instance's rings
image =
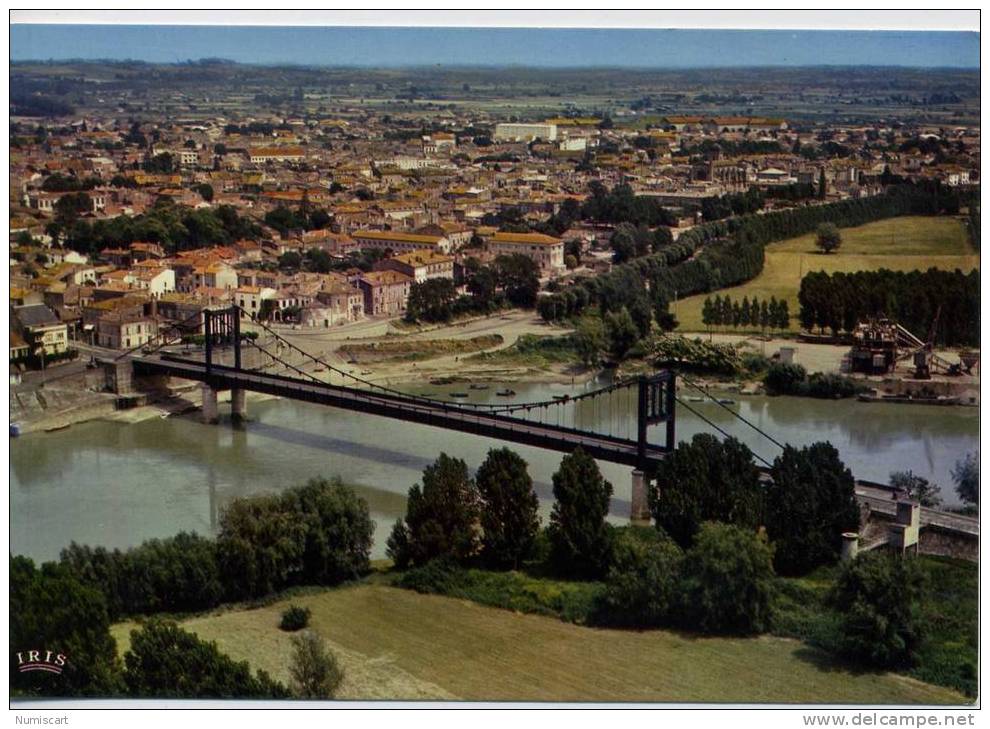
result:
[[(564, 453), (570, 453), (580, 446), (602, 461), (629, 466), (641, 465), (638, 444), (634, 440), (461, 408), (456, 404), (430, 402), (412, 396), (403, 397), (344, 385), (307, 382), (294, 377), (237, 370), (220, 365), (213, 365), (211, 371), (207, 372), (204, 363), (180, 358), (134, 358), (133, 364), (135, 374), (181, 377), (204, 382), (218, 390), (237, 388), (264, 392)], [(651, 444), (646, 450), (646, 461), (659, 460), (665, 454), (665, 448)]]

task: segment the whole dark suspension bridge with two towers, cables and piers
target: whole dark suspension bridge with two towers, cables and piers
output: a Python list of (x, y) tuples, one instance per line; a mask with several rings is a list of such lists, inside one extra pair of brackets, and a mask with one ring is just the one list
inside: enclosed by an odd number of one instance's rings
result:
[[(649, 521), (649, 481), (656, 464), (673, 450), (675, 376), (663, 370), (616, 381), (594, 391), (537, 402), (470, 403), (410, 395), (371, 382), (304, 351), (240, 307), (197, 314), (202, 356), (163, 349), (189, 333), (182, 322), (163, 330), (154, 345), (128, 356), (137, 376), (171, 376), (202, 383), (203, 419), (219, 420), (217, 393), (231, 391), (234, 419), (246, 416), (245, 393), (263, 392), (329, 407), (379, 415), (511, 443), (632, 466), (633, 521)], [(243, 331), (242, 318), (252, 320)], [(247, 348), (247, 349), (245, 349)], [(251, 357), (246, 357), (250, 352)], [(315, 369), (315, 372), (306, 369)], [(319, 376), (318, 376), (319, 375)], [(636, 414), (635, 421), (628, 417)], [(649, 436), (663, 425), (662, 442)]]

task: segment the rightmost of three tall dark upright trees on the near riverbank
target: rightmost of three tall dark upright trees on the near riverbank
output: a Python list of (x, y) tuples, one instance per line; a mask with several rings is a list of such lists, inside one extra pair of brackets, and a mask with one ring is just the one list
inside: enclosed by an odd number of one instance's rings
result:
[(605, 522), (612, 484), (595, 459), (576, 448), (564, 456), (553, 475), (556, 501), (548, 536), (551, 561), (562, 574), (600, 577), (609, 562), (609, 527)]

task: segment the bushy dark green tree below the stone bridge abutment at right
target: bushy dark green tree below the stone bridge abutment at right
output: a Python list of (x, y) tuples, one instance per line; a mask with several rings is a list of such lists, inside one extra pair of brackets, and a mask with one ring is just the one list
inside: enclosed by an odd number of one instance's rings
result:
[(842, 614), (841, 651), (878, 668), (913, 665), (923, 638), (923, 586), (912, 560), (880, 550), (844, 565), (831, 596)]

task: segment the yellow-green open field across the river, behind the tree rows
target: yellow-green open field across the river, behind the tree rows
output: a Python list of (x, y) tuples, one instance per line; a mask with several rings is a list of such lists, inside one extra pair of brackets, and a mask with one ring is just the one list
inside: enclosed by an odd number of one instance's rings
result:
[(680, 331), (701, 332), (705, 325), (701, 309), (706, 296), (728, 294), (733, 301), (744, 296), (769, 300), (786, 299), (797, 326), (800, 309), (797, 295), (801, 278), (812, 271), (925, 271), (929, 268), (971, 271), (979, 268), (980, 257), (969, 243), (962, 221), (950, 217), (904, 217), (868, 223), (858, 228), (841, 228), (842, 246), (824, 255), (815, 247), (815, 235), (771, 243), (766, 249), (763, 272), (741, 286), (711, 294), (691, 296), (677, 302)]

